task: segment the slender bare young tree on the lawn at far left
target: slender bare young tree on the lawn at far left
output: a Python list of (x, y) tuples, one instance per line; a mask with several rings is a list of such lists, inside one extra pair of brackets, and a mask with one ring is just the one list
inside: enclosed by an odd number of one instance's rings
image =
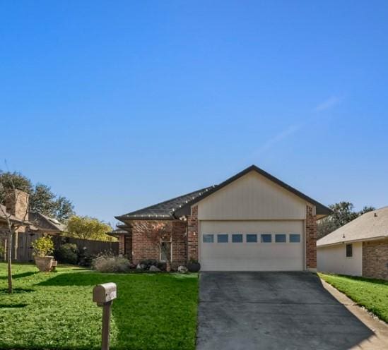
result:
[[(19, 200), (27, 200), (27, 203), (25, 203), (25, 207), (27, 210), (25, 211), (24, 217), (16, 218), (14, 217), (10, 212), (7, 212), (5, 207), (3, 205), (0, 205), (0, 216), (1, 219), (3, 219), (6, 222), (6, 227), (1, 226), (0, 227), (0, 233), (1, 231), (6, 234), (6, 262), (7, 262), (7, 279), (8, 279), (8, 293), (11, 294), (13, 291), (12, 286), (12, 241), (13, 236), (16, 236), (16, 232), (20, 229), (20, 227), (27, 227), (28, 221), (27, 221), (27, 215), (28, 215), (28, 198), (27, 196), (22, 196), (21, 199), (19, 196), (21, 193), (19, 191), (16, 191), (16, 185), (13, 183), (13, 179), (9, 177), (3, 178), (2, 173), (0, 172), (0, 193), (4, 196), (3, 200), (6, 200), (7, 195), (15, 195), (16, 198), (14, 200), (18, 202)], [(16, 179), (18, 180), (18, 179)], [(6, 186), (4, 186), (4, 183)], [(22, 182), (17, 182), (18, 186), (21, 186)]]

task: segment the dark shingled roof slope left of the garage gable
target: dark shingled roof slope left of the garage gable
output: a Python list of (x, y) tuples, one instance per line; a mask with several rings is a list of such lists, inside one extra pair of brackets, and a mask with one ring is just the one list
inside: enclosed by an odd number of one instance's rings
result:
[(151, 205), (149, 207), (144, 207), (143, 209), (135, 210), (134, 212), (129, 212), (124, 215), (120, 215), (116, 217), (118, 220), (123, 219), (175, 219), (174, 212), (175, 210), (182, 207), (186, 203), (189, 203), (191, 200), (194, 200), (199, 195), (206, 193), (209, 191), (211, 187), (202, 188), (201, 190), (186, 193), (185, 195), (180, 195), (179, 197), (175, 197), (169, 200), (165, 200), (164, 202)]

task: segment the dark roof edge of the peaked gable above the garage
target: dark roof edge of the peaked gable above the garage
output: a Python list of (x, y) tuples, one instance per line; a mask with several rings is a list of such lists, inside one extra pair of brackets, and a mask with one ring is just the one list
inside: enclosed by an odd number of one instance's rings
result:
[(228, 180), (223, 181), (218, 186), (213, 186), (209, 191), (206, 191), (205, 193), (202, 193), (201, 195), (194, 198), (194, 200), (191, 200), (186, 205), (183, 205), (180, 207), (180, 209), (176, 210), (175, 215), (177, 217), (180, 217), (182, 215), (189, 215), (190, 214), (190, 207), (198, 203), (200, 200), (203, 200), (208, 195), (211, 195), (212, 193), (215, 193), (218, 190), (221, 190), (221, 188), (227, 186), (229, 183), (232, 183), (233, 181), (236, 181), (237, 179), (240, 179), (240, 177), (244, 176), (245, 174), (248, 174), (250, 171), (256, 171), (258, 174), (264, 176), (266, 179), (269, 179), (270, 181), (276, 183), (278, 186), (281, 186), (285, 188), (287, 191), (290, 191), (291, 193), (298, 195), (298, 197), (302, 198), (308, 203), (311, 203), (312, 205), (315, 205), (317, 210), (317, 215), (330, 215), (331, 210), (324, 206), (323, 204), (317, 202), (317, 200), (314, 200), (307, 195), (303, 194), (302, 192), (298, 191), (297, 189), (291, 187), (287, 183), (284, 183), (283, 181), (277, 179), (275, 176), (272, 176), (271, 174), (267, 173), (263, 169), (260, 169), (256, 165), (251, 165), (250, 167), (247, 167), (247, 169), (244, 169), (243, 171), (240, 171), (240, 173), (235, 174), (235, 176), (230, 177)]

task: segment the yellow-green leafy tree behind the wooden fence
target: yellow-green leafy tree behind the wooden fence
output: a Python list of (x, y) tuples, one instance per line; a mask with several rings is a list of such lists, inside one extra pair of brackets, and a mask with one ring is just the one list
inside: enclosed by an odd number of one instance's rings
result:
[(112, 227), (94, 217), (81, 217), (74, 215), (67, 222), (67, 236), (78, 239), (92, 239), (95, 241), (115, 241), (114, 237), (107, 233)]

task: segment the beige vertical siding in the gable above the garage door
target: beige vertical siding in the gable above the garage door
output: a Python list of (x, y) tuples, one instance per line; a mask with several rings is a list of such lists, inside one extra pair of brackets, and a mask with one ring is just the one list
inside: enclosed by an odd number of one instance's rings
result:
[(305, 219), (306, 203), (255, 171), (198, 203), (199, 220)]

